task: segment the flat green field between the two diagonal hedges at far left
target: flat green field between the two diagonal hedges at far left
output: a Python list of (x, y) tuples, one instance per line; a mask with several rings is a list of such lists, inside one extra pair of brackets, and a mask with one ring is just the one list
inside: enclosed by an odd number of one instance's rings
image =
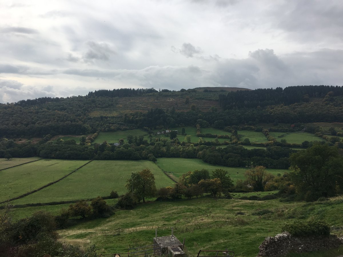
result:
[(87, 161), (43, 159), (0, 171), (0, 201), (37, 189), (67, 175)]

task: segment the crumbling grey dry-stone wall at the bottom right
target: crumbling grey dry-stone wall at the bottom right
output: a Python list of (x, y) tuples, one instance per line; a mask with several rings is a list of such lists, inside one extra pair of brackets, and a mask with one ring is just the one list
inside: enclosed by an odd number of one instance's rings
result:
[(343, 238), (335, 235), (328, 237), (293, 237), (287, 232), (266, 237), (259, 246), (258, 256), (277, 257), (288, 252), (302, 253), (337, 248), (343, 244)]

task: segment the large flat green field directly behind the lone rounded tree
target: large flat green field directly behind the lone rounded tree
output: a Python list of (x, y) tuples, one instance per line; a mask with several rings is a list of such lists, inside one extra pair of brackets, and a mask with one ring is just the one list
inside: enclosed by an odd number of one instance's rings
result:
[(14, 204), (49, 203), (92, 199), (108, 196), (112, 190), (125, 194), (126, 181), (131, 172), (150, 169), (155, 176), (156, 187), (172, 186), (173, 181), (151, 161), (108, 160), (92, 161), (66, 179), (46, 187), (34, 194), (15, 200)]

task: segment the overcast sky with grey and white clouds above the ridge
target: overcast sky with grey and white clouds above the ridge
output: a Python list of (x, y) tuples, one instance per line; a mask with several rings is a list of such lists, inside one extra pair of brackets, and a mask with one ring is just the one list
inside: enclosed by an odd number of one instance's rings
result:
[(341, 0), (1, 0), (0, 103), (343, 85)]

